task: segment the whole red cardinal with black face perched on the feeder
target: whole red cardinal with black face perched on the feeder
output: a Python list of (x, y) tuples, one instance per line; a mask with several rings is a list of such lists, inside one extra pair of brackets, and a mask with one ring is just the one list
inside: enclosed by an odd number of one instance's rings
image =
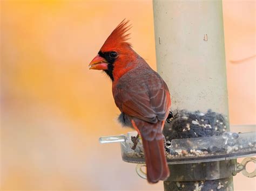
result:
[(170, 93), (159, 74), (127, 43), (127, 23), (123, 20), (113, 30), (89, 67), (104, 70), (111, 78), (114, 102), (121, 111), (118, 121), (142, 137), (147, 181), (156, 183), (170, 174), (162, 133), (171, 107)]

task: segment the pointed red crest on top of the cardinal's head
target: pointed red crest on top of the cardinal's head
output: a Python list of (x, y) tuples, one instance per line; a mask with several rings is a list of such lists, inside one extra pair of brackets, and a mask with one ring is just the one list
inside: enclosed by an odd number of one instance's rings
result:
[(129, 20), (124, 19), (106, 39), (105, 43), (103, 44), (102, 48), (100, 48), (100, 50), (103, 52), (107, 52), (120, 46), (131, 46), (131, 44), (127, 43), (126, 41), (130, 39), (130, 33), (125, 34), (127, 31), (131, 29), (131, 25), (128, 25), (128, 23)]

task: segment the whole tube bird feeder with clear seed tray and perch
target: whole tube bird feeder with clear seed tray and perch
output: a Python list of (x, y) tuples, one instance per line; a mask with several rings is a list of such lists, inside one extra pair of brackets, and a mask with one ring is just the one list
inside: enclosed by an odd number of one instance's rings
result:
[[(221, 1), (153, 0), (157, 70), (170, 89), (171, 112), (164, 126), (171, 175), (164, 190), (233, 190), (233, 176), (247, 177), (256, 162), (256, 132), (230, 132)], [(122, 158), (138, 164), (146, 178), (143, 145), (132, 150), (132, 136), (109, 136), (120, 142)], [(245, 158), (241, 164), (237, 158)]]

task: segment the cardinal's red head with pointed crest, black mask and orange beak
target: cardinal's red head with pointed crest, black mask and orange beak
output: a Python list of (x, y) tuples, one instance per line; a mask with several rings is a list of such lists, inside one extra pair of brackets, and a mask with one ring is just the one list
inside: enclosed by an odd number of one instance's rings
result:
[(132, 63), (137, 58), (137, 54), (131, 48), (131, 44), (126, 41), (130, 35), (126, 32), (131, 28), (131, 25), (127, 25), (128, 22), (123, 20), (113, 30), (100, 48), (98, 55), (91, 61), (90, 69), (104, 70), (114, 80), (131, 68), (128, 63)]

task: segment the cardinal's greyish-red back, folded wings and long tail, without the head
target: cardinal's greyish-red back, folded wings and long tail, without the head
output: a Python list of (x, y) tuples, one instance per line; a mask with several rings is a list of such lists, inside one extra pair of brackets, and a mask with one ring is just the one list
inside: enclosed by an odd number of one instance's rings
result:
[(113, 96), (142, 137), (147, 180), (156, 183), (170, 174), (161, 132), (171, 106), (170, 93), (163, 79), (142, 58), (135, 66), (113, 83)]

